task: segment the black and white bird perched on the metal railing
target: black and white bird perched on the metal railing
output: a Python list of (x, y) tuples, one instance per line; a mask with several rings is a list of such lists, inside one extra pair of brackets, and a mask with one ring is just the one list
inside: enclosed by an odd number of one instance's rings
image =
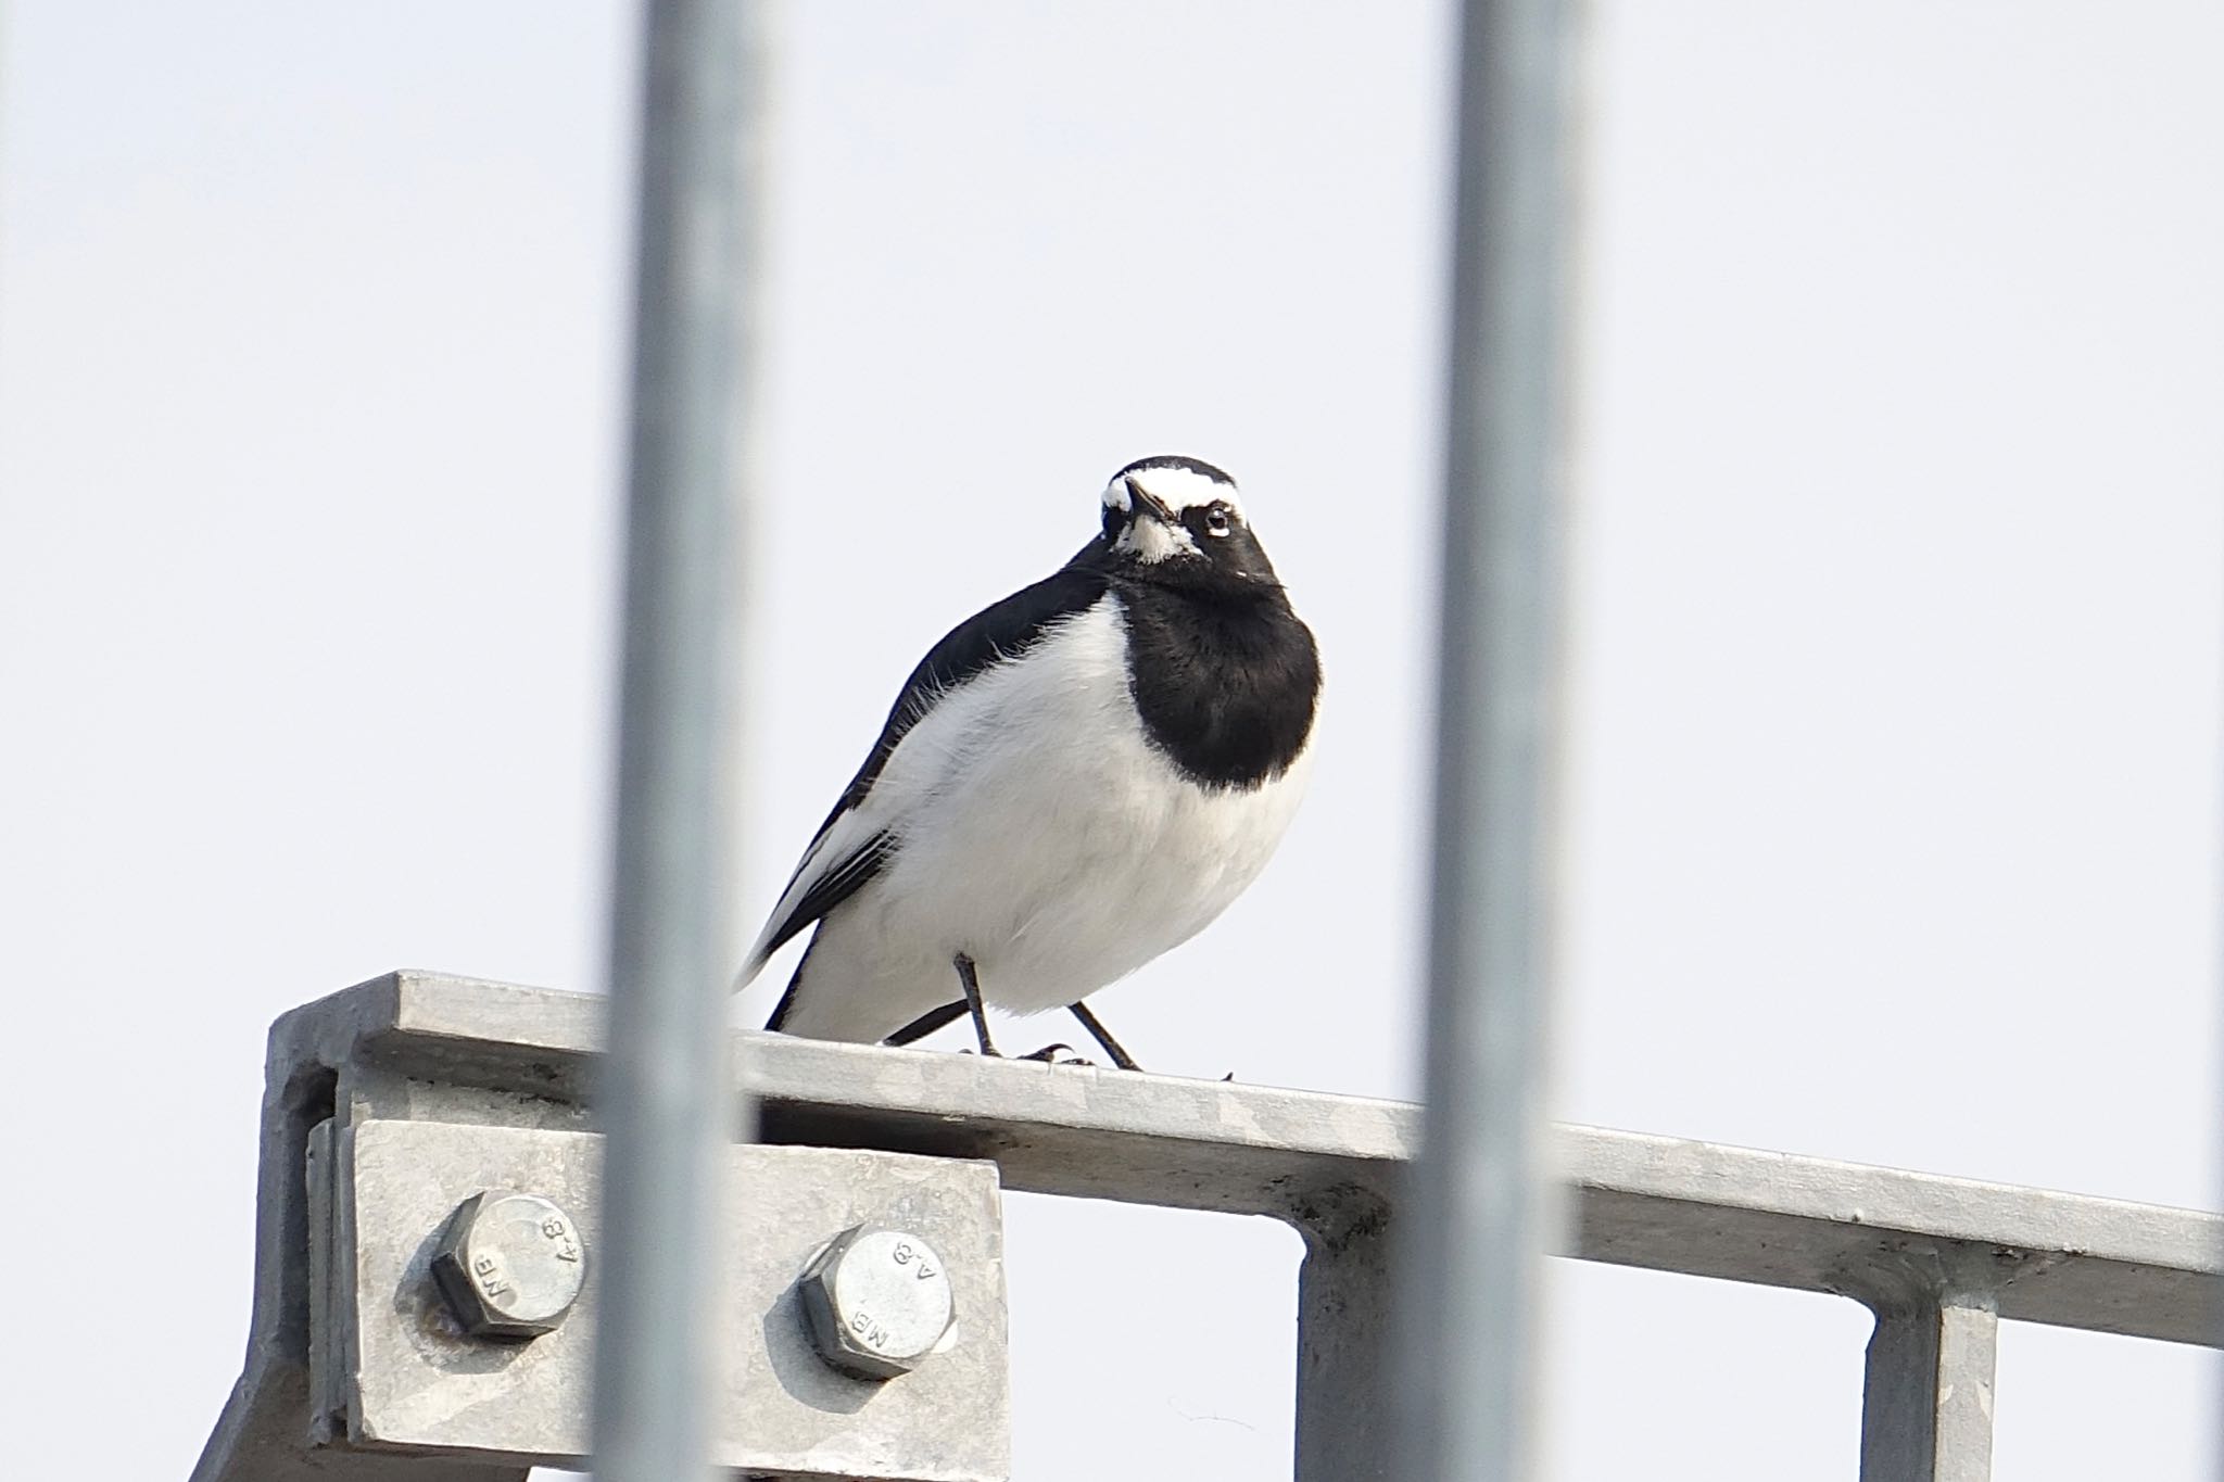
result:
[(816, 922), (767, 1029), (907, 1044), (972, 1013), (994, 1055), (985, 1004), (1070, 1009), (1136, 1069), (1083, 998), (1259, 875), (1305, 789), (1319, 691), (1234, 480), (1128, 464), (1094, 540), (905, 680), (736, 987)]

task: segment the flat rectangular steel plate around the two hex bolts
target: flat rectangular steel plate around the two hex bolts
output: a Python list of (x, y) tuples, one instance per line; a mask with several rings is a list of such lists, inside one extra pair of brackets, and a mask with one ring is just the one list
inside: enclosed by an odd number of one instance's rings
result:
[[(529, 1126), (371, 1120), (338, 1135), (331, 1309), (356, 1449), (580, 1464), (607, 1264), (572, 1318), (529, 1344), (489, 1344), (451, 1320), (431, 1275), (458, 1191), (529, 1184), (598, 1209), (603, 1140)], [(903, 1153), (732, 1146), (747, 1186), (721, 1213), (723, 1282), (703, 1322), (729, 1353), (714, 1393), (714, 1460), (783, 1478), (1001, 1482), (1010, 1475), (1003, 1224), (996, 1169)], [(812, 1346), (796, 1278), (830, 1235), (901, 1222), (950, 1255), (959, 1322), (932, 1362), (858, 1380)], [(585, 1231), (596, 1244), (596, 1231)], [(603, 1286), (603, 1293), (596, 1286)]]

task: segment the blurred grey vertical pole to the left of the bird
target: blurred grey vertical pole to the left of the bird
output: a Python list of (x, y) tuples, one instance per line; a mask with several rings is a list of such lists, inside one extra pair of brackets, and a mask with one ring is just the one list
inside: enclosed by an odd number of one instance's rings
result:
[(758, 11), (649, 0), (594, 1466), (712, 1478)]

